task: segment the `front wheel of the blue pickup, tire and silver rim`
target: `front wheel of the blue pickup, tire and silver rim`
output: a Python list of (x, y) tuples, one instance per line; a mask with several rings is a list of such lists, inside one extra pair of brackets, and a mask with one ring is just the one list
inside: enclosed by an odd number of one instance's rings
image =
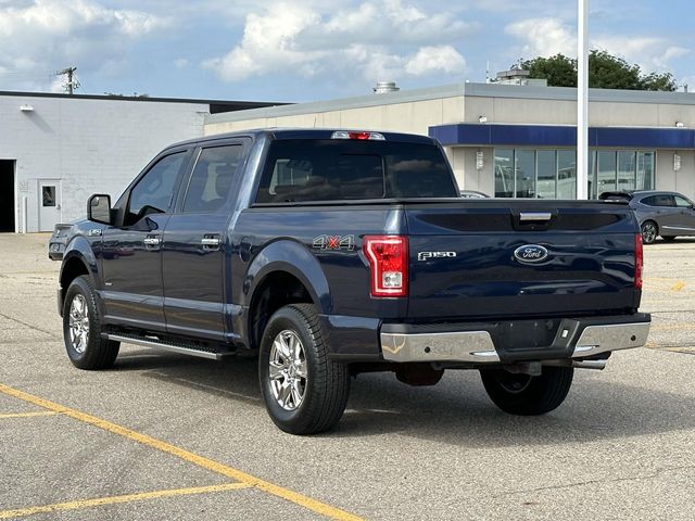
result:
[(121, 343), (102, 339), (101, 332), (97, 290), (89, 277), (77, 277), (67, 288), (63, 303), (63, 339), (75, 367), (96, 370), (113, 365)]

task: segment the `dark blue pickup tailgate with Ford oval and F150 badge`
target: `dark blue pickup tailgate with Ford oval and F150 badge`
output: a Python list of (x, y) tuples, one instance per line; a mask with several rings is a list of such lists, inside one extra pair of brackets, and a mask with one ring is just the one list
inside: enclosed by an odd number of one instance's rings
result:
[(408, 204), (406, 217), (408, 318), (606, 315), (639, 305), (637, 226), (627, 206), (448, 200)]

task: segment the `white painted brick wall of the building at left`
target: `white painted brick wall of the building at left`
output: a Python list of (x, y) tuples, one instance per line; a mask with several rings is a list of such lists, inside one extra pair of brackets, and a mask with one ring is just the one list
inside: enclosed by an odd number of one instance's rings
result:
[[(34, 111), (20, 111), (23, 104)], [(207, 111), (195, 103), (0, 96), (0, 158), (16, 160), (27, 230), (38, 231), (39, 179), (61, 179), (61, 221), (85, 217), (89, 195), (109, 193), (115, 202), (160, 150), (202, 136)]]

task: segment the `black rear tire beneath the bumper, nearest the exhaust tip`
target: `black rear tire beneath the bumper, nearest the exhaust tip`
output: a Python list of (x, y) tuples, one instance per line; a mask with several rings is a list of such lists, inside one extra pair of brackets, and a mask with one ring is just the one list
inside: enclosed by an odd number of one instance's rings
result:
[(483, 369), (482, 383), (490, 399), (505, 412), (520, 416), (544, 415), (560, 406), (572, 385), (571, 367), (543, 367), (539, 377), (516, 374), (504, 369)]

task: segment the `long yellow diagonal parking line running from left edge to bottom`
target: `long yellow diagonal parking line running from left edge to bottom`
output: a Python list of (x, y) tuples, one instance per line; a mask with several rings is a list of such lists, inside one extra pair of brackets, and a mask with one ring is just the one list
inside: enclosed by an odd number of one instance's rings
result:
[(23, 399), (39, 407), (43, 407), (48, 410), (61, 412), (76, 420), (103, 429), (104, 431), (109, 431), (113, 434), (118, 434), (119, 436), (141, 443), (142, 445), (156, 448), (157, 450), (162, 450), (163, 453), (176, 456), (177, 458), (189, 461), (193, 465), (202, 467), (203, 469), (207, 469), (212, 472), (217, 472), (218, 474), (231, 478), (232, 480), (240, 481), (242, 483), (247, 483), (248, 485), (254, 486), (263, 492), (267, 492), (268, 494), (273, 494), (274, 496), (287, 499), (288, 501), (300, 505), (304, 508), (307, 508), (308, 510), (313, 510), (316, 513), (326, 516), (327, 518), (340, 521), (354, 521), (362, 519), (357, 516), (345, 512), (344, 510), (340, 510), (339, 508), (331, 507), (330, 505), (313, 499), (303, 494), (299, 494), (274, 483), (261, 480), (260, 478), (248, 474), (241, 470), (237, 470), (232, 467), (228, 467), (203, 456), (190, 453), (184, 448), (177, 447), (166, 442), (162, 442), (161, 440), (156, 440), (147, 434), (141, 434), (125, 427), (117, 425), (116, 423), (97, 418), (96, 416), (87, 415), (85, 412), (71, 409), (70, 407), (54, 404), (53, 402), (49, 402), (48, 399), (39, 398), (38, 396), (34, 396), (31, 394), (25, 393), (24, 391), (10, 387), (2, 383), (0, 383), (0, 393), (13, 396), (18, 399)]

